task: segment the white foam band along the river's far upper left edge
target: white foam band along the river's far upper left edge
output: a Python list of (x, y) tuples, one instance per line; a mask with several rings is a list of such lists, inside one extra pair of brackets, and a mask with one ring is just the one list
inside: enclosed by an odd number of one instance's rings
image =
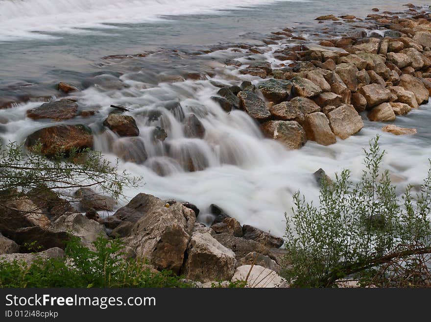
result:
[(44, 33), (111, 28), (103, 24), (155, 22), (165, 16), (214, 14), (282, 1), (301, 0), (0, 0), (0, 40), (48, 38)]

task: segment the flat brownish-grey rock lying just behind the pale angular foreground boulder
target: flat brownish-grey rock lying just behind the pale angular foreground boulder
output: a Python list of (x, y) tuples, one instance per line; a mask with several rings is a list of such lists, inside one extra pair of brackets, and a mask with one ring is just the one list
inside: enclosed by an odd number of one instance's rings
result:
[(237, 259), (245, 257), (248, 253), (253, 251), (263, 255), (270, 255), (268, 248), (254, 240), (235, 237), (229, 233), (216, 234), (214, 235), (214, 238), (224, 247), (232, 249), (235, 252), (235, 257)]

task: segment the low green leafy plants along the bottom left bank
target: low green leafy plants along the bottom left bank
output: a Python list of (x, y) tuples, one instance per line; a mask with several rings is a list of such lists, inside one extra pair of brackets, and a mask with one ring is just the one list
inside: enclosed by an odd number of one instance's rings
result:
[(185, 287), (170, 271), (152, 272), (144, 262), (124, 259), (120, 240), (99, 237), (95, 251), (73, 237), (64, 258), (0, 261), (0, 287)]

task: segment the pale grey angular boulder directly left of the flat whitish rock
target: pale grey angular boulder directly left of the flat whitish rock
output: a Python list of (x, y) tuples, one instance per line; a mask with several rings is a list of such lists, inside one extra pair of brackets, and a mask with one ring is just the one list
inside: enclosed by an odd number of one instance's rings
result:
[(193, 233), (187, 247), (183, 274), (186, 278), (209, 282), (230, 280), (235, 271), (235, 253), (210, 234)]

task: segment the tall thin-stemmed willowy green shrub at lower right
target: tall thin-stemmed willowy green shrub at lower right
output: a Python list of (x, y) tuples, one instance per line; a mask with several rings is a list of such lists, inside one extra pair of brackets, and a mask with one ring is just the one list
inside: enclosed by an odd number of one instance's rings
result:
[(365, 150), (362, 177), (343, 170), (330, 182), (323, 177), (320, 205), (294, 197), (287, 216), (284, 277), (296, 287), (334, 287), (343, 278), (360, 285), (431, 286), (431, 170), (413, 197), (401, 198), (388, 171), (379, 137)]

